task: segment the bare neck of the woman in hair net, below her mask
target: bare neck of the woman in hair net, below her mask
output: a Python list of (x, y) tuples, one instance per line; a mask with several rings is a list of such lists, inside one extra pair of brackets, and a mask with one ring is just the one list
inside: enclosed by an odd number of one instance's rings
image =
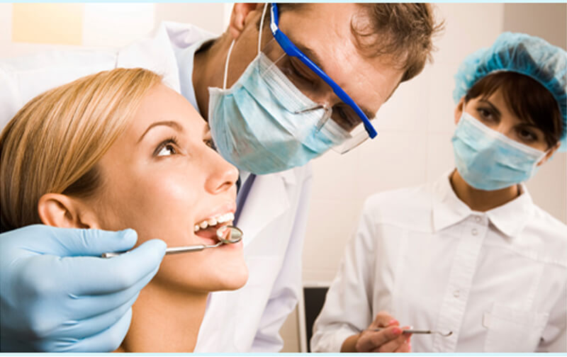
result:
[(478, 190), (466, 183), (456, 169), (449, 177), (449, 182), (451, 182), (456, 196), (466, 203), (471, 210), (478, 212), (492, 210), (520, 196), (520, 188), (518, 185), (512, 185), (495, 191)]

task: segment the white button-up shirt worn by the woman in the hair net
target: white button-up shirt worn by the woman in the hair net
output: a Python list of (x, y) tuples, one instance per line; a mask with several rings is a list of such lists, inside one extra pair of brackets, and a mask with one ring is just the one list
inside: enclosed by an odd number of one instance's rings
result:
[(567, 226), (532, 202), (475, 212), (449, 173), (371, 196), (321, 314), (313, 351), (339, 351), (385, 310), (415, 352), (567, 351)]

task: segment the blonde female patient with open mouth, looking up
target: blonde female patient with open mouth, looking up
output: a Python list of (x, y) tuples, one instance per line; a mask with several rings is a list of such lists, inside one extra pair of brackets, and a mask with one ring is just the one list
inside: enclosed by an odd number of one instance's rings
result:
[[(213, 244), (235, 212), (237, 169), (211, 149), (189, 102), (145, 69), (41, 94), (6, 126), (0, 150), (4, 229), (130, 227), (138, 244)], [(118, 351), (193, 351), (208, 293), (246, 280), (242, 243), (165, 257)]]

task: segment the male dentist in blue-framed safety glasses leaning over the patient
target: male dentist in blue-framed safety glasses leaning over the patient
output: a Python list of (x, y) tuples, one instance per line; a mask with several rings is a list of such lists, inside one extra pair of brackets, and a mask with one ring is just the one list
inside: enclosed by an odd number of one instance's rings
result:
[[(391, 13), (399, 14), (397, 21), (391, 21)], [(373, 42), (359, 43), (357, 25), (376, 35)], [(235, 292), (210, 295), (195, 351), (275, 352), (283, 344), (281, 324), (301, 294), (312, 181), (306, 164), (328, 149), (347, 152), (376, 136), (371, 119), (401, 81), (421, 72), (436, 29), (427, 4), (235, 4), (220, 38), (194, 26), (167, 23), (152, 38), (118, 51), (5, 60), (0, 64), (0, 122), (4, 125), (36, 94), (86, 74), (113, 67), (145, 67), (163, 74), (165, 83), (208, 118), (218, 152), (241, 170), (235, 223), (245, 232), (249, 280)], [(377, 52), (386, 42), (388, 53)], [(28, 239), (37, 236), (47, 237), (42, 246)], [(71, 246), (75, 236), (84, 237), (87, 246)], [(126, 231), (123, 236), (40, 226), (1, 234), (1, 348), (115, 349), (128, 324), (120, 320), (122, 310), (113, 300), (104, 302), (116, 316), (89, 317), (69, 328), (74, 310), (88, 309), (88, 303), (77, 305), (69, 297), (72, 292), (36, 285), (49, 286), (38, 281), (54, 279), (58, 287), (68, 281), (91, 283), (81, 279), (92, 259), (81, 256), (129, 249), (135, 234)], [(56, 263), (13, 264), (38, 261), (38, 253), (53, 261), (74, 256), (73, 274), (62, 275)], [(135, 249), (123, 266), (122, 288), (133, 297), (159, 265), (159, 259), (144, 254), (141, 247)], [(28, 280), (20, 279), (23, 274)], [(113, 272), (101, 271), (101, 276)], [(35, 301), (20, 298), (28, 291), (37, 296)], [(45, 321), (41, 311), (47, 308), (61, 311), (60, 320)]]

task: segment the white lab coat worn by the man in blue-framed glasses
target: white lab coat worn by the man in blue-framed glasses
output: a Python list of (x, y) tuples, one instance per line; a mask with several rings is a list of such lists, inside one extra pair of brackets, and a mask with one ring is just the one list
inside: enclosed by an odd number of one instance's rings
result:
[[(0, 128), (21, 106), (54, 86), (115, 67), (145, 67), (180, 91), (176, 51), (212, 38), (191, 25), (164, 23), (151, 38), (119, 50), (40, 53), (0, 60)], [(189, 101), (196, 107), (195, 98)], [(196, 107), (197, 108), (197, 107)], [(196, 352), (276, 352), (281, 324), (301, 296), (301, 251), (305, 235), (310, 166), (257, 176), (242, 206), (249, 268), (245, 287), (210, 295)]]

